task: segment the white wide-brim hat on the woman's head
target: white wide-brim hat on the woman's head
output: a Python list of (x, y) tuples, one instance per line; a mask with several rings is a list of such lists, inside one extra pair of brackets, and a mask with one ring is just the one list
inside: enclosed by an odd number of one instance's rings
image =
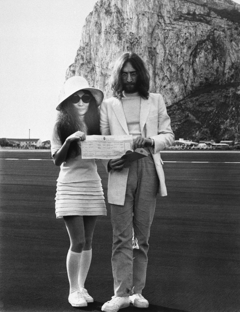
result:
[(80, 90), (89, 90), (94, 96), (98, 106), (102, 103), (104, 97), (103, 91), (97, 88), (89, 87), (89, 84), (84, 77), (73, 76), (65, 81), (59, 95), (59, 101), (56, 110), (60, 110), (62, 102)]

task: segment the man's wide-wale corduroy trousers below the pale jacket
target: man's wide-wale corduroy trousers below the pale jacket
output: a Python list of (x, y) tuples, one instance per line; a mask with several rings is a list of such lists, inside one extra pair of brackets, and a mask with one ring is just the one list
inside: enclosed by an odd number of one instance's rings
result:
[[(124, 205), (111, 204), (115, 296), (141, 294), (145, 286), (148, 239), (156, 207), (158, 183), (151, 155), (134, 161), (128, 172)], [(139, 249), (133, 249), (132, 228)]]

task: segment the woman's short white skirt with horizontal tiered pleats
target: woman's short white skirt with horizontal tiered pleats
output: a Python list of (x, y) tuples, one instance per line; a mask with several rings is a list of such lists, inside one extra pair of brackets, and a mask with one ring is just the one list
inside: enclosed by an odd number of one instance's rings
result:
[(56, 217), (106, 216), (107, 210), (101, 181), (57, 182)]

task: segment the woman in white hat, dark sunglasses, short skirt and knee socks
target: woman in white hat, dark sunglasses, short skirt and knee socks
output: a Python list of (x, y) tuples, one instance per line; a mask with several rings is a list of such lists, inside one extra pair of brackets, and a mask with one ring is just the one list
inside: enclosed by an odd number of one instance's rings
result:
[(87, 306), (93, 298), (84, 288), (91, 257), (97, 216), (106, 215), (101, 179), (95, 159), (82, 159), (80, 141), (85, 135), (100, 134), (98, 106), (103, 92), (89, 87), (80, 76), (66, 80), (60, 95), (58, 119), (51, 139), (51, 154), (60, 166), (55, 197), (57, 218), (63, 218), (70, 237), (67, 273), (68, 301), (74, 307)]

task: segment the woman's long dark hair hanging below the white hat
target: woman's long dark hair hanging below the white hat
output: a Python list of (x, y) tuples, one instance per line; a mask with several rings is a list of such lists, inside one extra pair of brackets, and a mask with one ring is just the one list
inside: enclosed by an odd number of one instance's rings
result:
[[(85, 94), (91, 94), (88, 90), (82, 90)], [(84, 115), (84, 123), (87, 126), (88, 135), (97, 134), (100, 135), (100, 117), (97, 102), (92, 95), (92, 99), (89, 102), (88, 111)], [(81, 121), (78, 115), (77, 108), (69, 103), (66, 99), (59, 111), (58, 121), (57, 121), (57, 132), (61, 143), (64, 144), (67, 137), (76, 131), (85, 132), (84, 123)], [(72, 141), (70, 143), (66, 159), (76, 157), (81, 153), (80, 145), (78, 141)]]

